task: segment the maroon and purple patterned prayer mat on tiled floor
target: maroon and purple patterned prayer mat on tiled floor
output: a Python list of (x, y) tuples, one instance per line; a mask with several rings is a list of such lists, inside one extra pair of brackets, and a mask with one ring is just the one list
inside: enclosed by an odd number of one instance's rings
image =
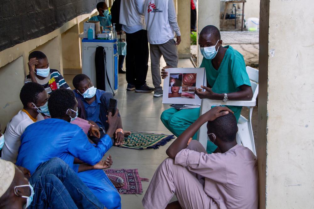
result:
[(140, 178), (137, 169), (104, 169), (108, 178), (111, 178), (119, 183), (124, 183), (124, 186), (116, 188), (119, 194), (142, 194), (142, 182), (149, 179)]

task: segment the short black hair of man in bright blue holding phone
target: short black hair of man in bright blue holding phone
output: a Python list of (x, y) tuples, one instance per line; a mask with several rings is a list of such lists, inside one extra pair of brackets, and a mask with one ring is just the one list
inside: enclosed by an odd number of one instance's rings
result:
[(67, 115), (67, 110), (73, 109), (76, 99), (73, 91), (60, 88), (52, 91), (48, 101), (48, 109), (51, 118), (63, 118)]

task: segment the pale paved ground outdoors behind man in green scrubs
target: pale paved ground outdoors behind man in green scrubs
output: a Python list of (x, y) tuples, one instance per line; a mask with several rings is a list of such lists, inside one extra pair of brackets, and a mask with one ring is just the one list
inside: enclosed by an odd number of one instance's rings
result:
[[(248, 66), (258, 67), (258, 31), (221, 31), (223, 46), (230, 45), (244, 57)], [(191, 46), (192, 56), (197, 54), (197, 46)]]

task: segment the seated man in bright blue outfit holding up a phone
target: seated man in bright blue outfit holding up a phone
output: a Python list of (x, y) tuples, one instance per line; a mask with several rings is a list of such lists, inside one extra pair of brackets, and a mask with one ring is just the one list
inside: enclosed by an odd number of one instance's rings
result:
[[(78, 173), (78, 177), (106, 208), (121, 208), (121, 197), (102, 170), (111, 166), (111, 156), (101, 161), (113, 144), (112, 136), (120, 121), (119, 111), (113, 116), (111, 112), (108, 113), (106, 135), (94, 146), (80, 127), (70, 123), (77, 118), (77, 106), (73, 91), (63, 88), (53, 91), (48, 102), (51, 118), (33, 123), (25, 129), (16, 164), (33, 174), (42, 162), (58, 157)], [(73, 165), (74, 158), (87, 164)]]

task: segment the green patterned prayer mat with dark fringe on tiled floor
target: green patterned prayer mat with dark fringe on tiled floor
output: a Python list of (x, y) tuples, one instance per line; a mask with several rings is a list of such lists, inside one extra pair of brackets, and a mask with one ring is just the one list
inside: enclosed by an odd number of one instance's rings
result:
[(167, 144), (174, 135), (155, 134), (155, 133), (140, 133), (132, 132), (132, 134), (124, 138), (124, 144), (119, 147), (130, 149), (158, 149), (159, 146)]

